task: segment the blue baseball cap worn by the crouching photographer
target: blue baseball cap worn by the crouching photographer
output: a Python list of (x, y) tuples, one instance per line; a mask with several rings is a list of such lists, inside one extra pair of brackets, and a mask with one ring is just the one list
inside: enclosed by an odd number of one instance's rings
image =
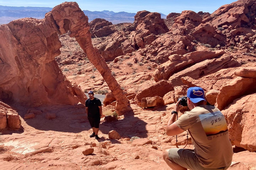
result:
[(198, 103), (204, 99), (204, 90), (201, 87), (190, 87), (187, 91), (187, 97), (193, 102)]

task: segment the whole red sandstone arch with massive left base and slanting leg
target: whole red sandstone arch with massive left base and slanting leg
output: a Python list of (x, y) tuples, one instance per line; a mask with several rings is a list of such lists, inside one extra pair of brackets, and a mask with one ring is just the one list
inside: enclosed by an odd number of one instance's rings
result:
[(29, 106), (75, 105), (85, 102), (81, 89), (66, 79), (54, 57), (60, 54), (58, 34), (75, 37), (117, 99), (119, 115), (130, 111), (128, 99), (91, 42), (88, 17), (76, 2), (53, 8), (42, 20), (25, 18), (0, 26), (0, 88), (12, 100)]

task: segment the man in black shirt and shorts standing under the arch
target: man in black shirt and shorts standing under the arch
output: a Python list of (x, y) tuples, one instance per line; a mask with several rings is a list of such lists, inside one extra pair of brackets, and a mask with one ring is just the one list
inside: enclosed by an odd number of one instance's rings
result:
[(95, 139), (99, 140), (100, 138), (98, 136), (98, 131), (100, 125), (100, 118), (102, 115), (101, 101), (98, 98), (94, 97), (93, 91), (89, 91), (88, 95), (89, 99), (87, 99), (85, 102), (85, 109), (88, 121), (93, 131), (90, 137), (95, 137)]

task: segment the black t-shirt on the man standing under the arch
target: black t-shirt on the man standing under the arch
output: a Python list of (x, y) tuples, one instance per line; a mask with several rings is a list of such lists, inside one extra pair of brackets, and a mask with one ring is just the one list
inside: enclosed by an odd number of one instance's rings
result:
[(99, 118), (99, 106), (101, 106), (101, 101), (98, 98), (94, 98), (93, 100), (87, 99), (85, 102), (85, 107), (88, 107), (88, 116), (93, 118)]

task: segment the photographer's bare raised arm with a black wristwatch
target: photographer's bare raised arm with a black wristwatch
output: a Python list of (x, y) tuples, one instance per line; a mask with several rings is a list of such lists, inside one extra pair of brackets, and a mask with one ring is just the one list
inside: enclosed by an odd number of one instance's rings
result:
[[(178, 101), (175, 105), (173, 110), (175, 112), (179, 112), (180, 111), (180, 106), (178, 105), (180, 101)], [(172, 114), (170, 120), (168, 121), (167, 125), (166, 125), (166, 129), (165, 132), (168, 136), (174, 136), (177, 134), (180, 134), (182, 132), (184, 132), (183, 129), (181, 129), (180, 127), (178, 127), (175, 123), (176, 118), (177, 118), (177, 114)]]

